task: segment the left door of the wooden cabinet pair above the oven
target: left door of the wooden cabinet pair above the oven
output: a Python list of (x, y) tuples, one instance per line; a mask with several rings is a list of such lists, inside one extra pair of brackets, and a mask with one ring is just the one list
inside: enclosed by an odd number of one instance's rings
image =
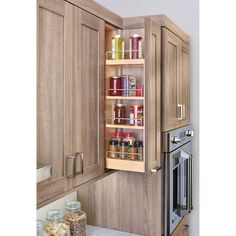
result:
[(167, 29), (162, 29), (162, 131), (178, 127), (179, 39)]

